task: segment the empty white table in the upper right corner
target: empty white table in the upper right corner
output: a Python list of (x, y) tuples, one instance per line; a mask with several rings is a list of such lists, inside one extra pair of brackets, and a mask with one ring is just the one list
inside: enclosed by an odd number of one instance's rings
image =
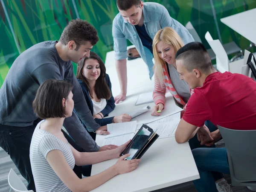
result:
[(221, 22), (256, 44), (256, 8), (221, 18)]

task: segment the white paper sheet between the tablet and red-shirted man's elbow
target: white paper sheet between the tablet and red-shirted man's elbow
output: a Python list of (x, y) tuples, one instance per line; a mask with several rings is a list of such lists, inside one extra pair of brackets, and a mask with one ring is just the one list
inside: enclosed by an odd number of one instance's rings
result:
[(148, 126), (152, 128), (159, 135), (160, 138), (175, 137), (175, 131), (180, 122), (180, 119), (175, 119), (171, 122), (164, 123), (149, 123)]

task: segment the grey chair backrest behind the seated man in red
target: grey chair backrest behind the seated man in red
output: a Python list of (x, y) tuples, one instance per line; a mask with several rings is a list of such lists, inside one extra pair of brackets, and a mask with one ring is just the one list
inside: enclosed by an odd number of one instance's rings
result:
[(233, 130), (218, 125), (227, 148), (233, 186), (256, 186), (256, 130)]

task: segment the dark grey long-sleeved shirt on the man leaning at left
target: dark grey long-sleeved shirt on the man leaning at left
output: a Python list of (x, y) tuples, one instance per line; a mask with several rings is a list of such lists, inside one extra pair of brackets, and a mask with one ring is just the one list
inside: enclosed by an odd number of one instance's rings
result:
[[(20, 54), (10, 68), (0, 89), (0, 123), (17, 127), (33, 124), (32, 102), (41, 83), (47, 79), (70, 81), (74, 85), (73, 100), (77, 114), (90, 131), (100, 125), (95, 122), (73, 72), (72, 61), (63, 61), (55, 48), (56, 41), (35, 44)], [(99, 146), (87, 133), (75, 113), (64, 121), (71, 137), (85, 151), (98, 151)]]

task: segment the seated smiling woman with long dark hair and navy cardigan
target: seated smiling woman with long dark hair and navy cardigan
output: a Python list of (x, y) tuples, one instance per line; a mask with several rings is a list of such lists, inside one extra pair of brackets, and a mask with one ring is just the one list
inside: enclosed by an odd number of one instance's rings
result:
[[(111, 92), (111, 81), (99, 55), (90, 52), (89, 57), (79, 61), (76, 78), (82, 87), (87, 105), (99, 125), (104, 126), (131, 120), (131, 116), (128, 114), (103, 119), (114, 110), (115, 100)], [(92, 132), (93, 130), (88, 131)]]

